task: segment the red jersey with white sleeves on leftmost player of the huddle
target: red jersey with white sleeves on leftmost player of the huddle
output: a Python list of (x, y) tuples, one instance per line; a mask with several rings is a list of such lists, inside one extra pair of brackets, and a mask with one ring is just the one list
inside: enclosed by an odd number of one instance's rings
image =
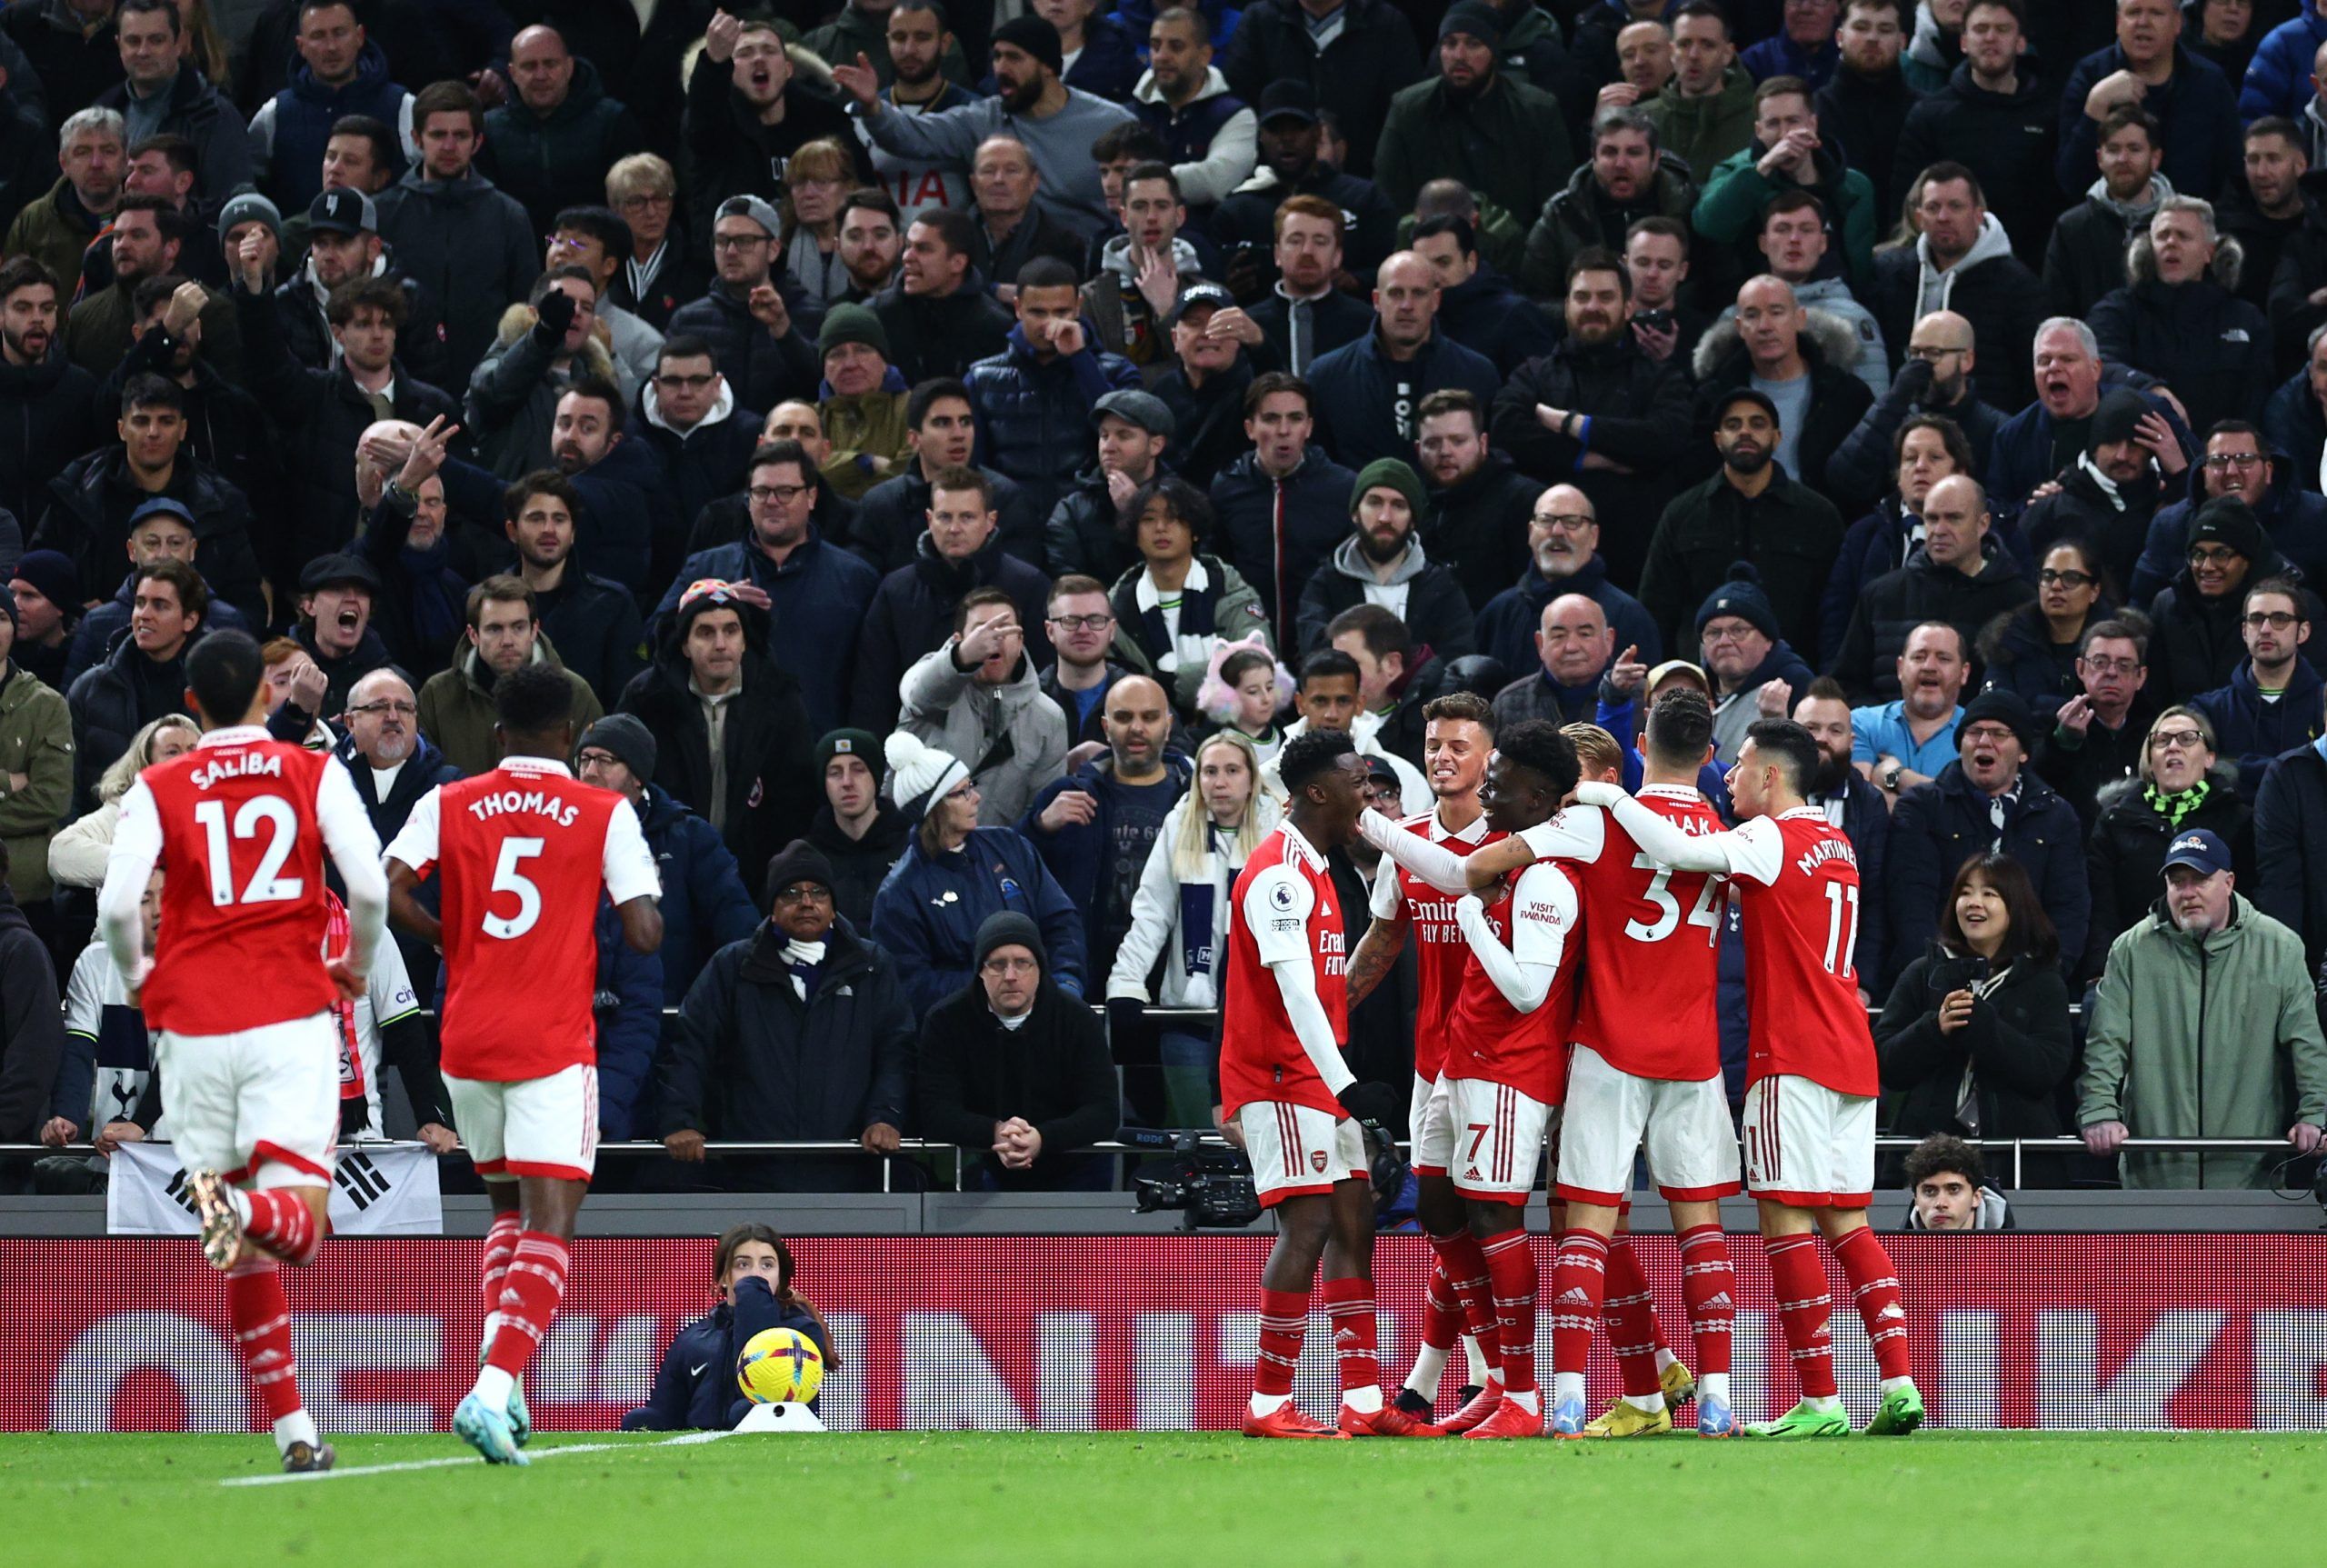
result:
[(1333, 872), (1294, 824), (1261, 840), (1229, 900), (1229, 1000), (1219, 1021), (1219, 1096), (1226, 1114), (1285, 1100), (1340, 1114), (1285, 1012), (1271, 958), (1305, 956), (1333, 1042), (1350, 1042), (1350, 947)]

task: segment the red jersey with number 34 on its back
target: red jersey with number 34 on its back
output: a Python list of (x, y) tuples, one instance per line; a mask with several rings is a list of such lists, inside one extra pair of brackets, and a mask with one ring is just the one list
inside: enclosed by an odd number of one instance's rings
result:
[[(1641, 805), (1682, 833), (1720, 833), (1720, 814), (1694, 789), (1650, 784)], [(1585, 921), (1575, 1042), (1617, 1072), (1699, 1082), (1720, 1077), (1722, 877), (1666, 870), (1641, 854), (1624, 826), (1596, 807), (1561, 812), (1592, 856), (1568, 861), (1592, 919)]]

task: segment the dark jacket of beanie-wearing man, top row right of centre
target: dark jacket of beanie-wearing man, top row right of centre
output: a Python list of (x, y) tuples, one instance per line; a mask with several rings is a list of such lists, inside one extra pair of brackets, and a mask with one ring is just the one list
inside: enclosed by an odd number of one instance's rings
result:
[(1373, 154), (1373, 184), (1399, 212), (1412, 212), (1426, 181), (1459, 179), (1480, 200), (1533, 219), (1573, 170), (1559, 100), (1501, 74), (1468, 98), (1443, 77), (1399, 88)]

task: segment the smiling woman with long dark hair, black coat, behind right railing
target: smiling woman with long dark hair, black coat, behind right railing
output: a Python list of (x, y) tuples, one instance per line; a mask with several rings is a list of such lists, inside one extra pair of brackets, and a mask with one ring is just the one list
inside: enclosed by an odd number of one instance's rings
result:
[(2059, 1138), (2055, 1096), (2071, 1052), (2059, 938), (2027, 870), (2008, 854), (1971, 856), (1948, 889), (1938, 940), (1876, 1019), (1892, 1131)]

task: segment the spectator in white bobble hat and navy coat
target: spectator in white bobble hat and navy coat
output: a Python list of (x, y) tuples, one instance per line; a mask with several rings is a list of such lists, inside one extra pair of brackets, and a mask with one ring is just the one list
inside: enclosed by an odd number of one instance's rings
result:
[(873, 940), (896, 958), (912, 1010), (926, 1017), (975, 979), (989, 914), (1029, 917), (1047, 949), (1045, 977), (1082, 996), (1082, 914), (1015, 828), (977, 826), (977, 786), (952, 751), (910, 730), (887, 740), (889, 796), (912, 831), (873, 898)]

